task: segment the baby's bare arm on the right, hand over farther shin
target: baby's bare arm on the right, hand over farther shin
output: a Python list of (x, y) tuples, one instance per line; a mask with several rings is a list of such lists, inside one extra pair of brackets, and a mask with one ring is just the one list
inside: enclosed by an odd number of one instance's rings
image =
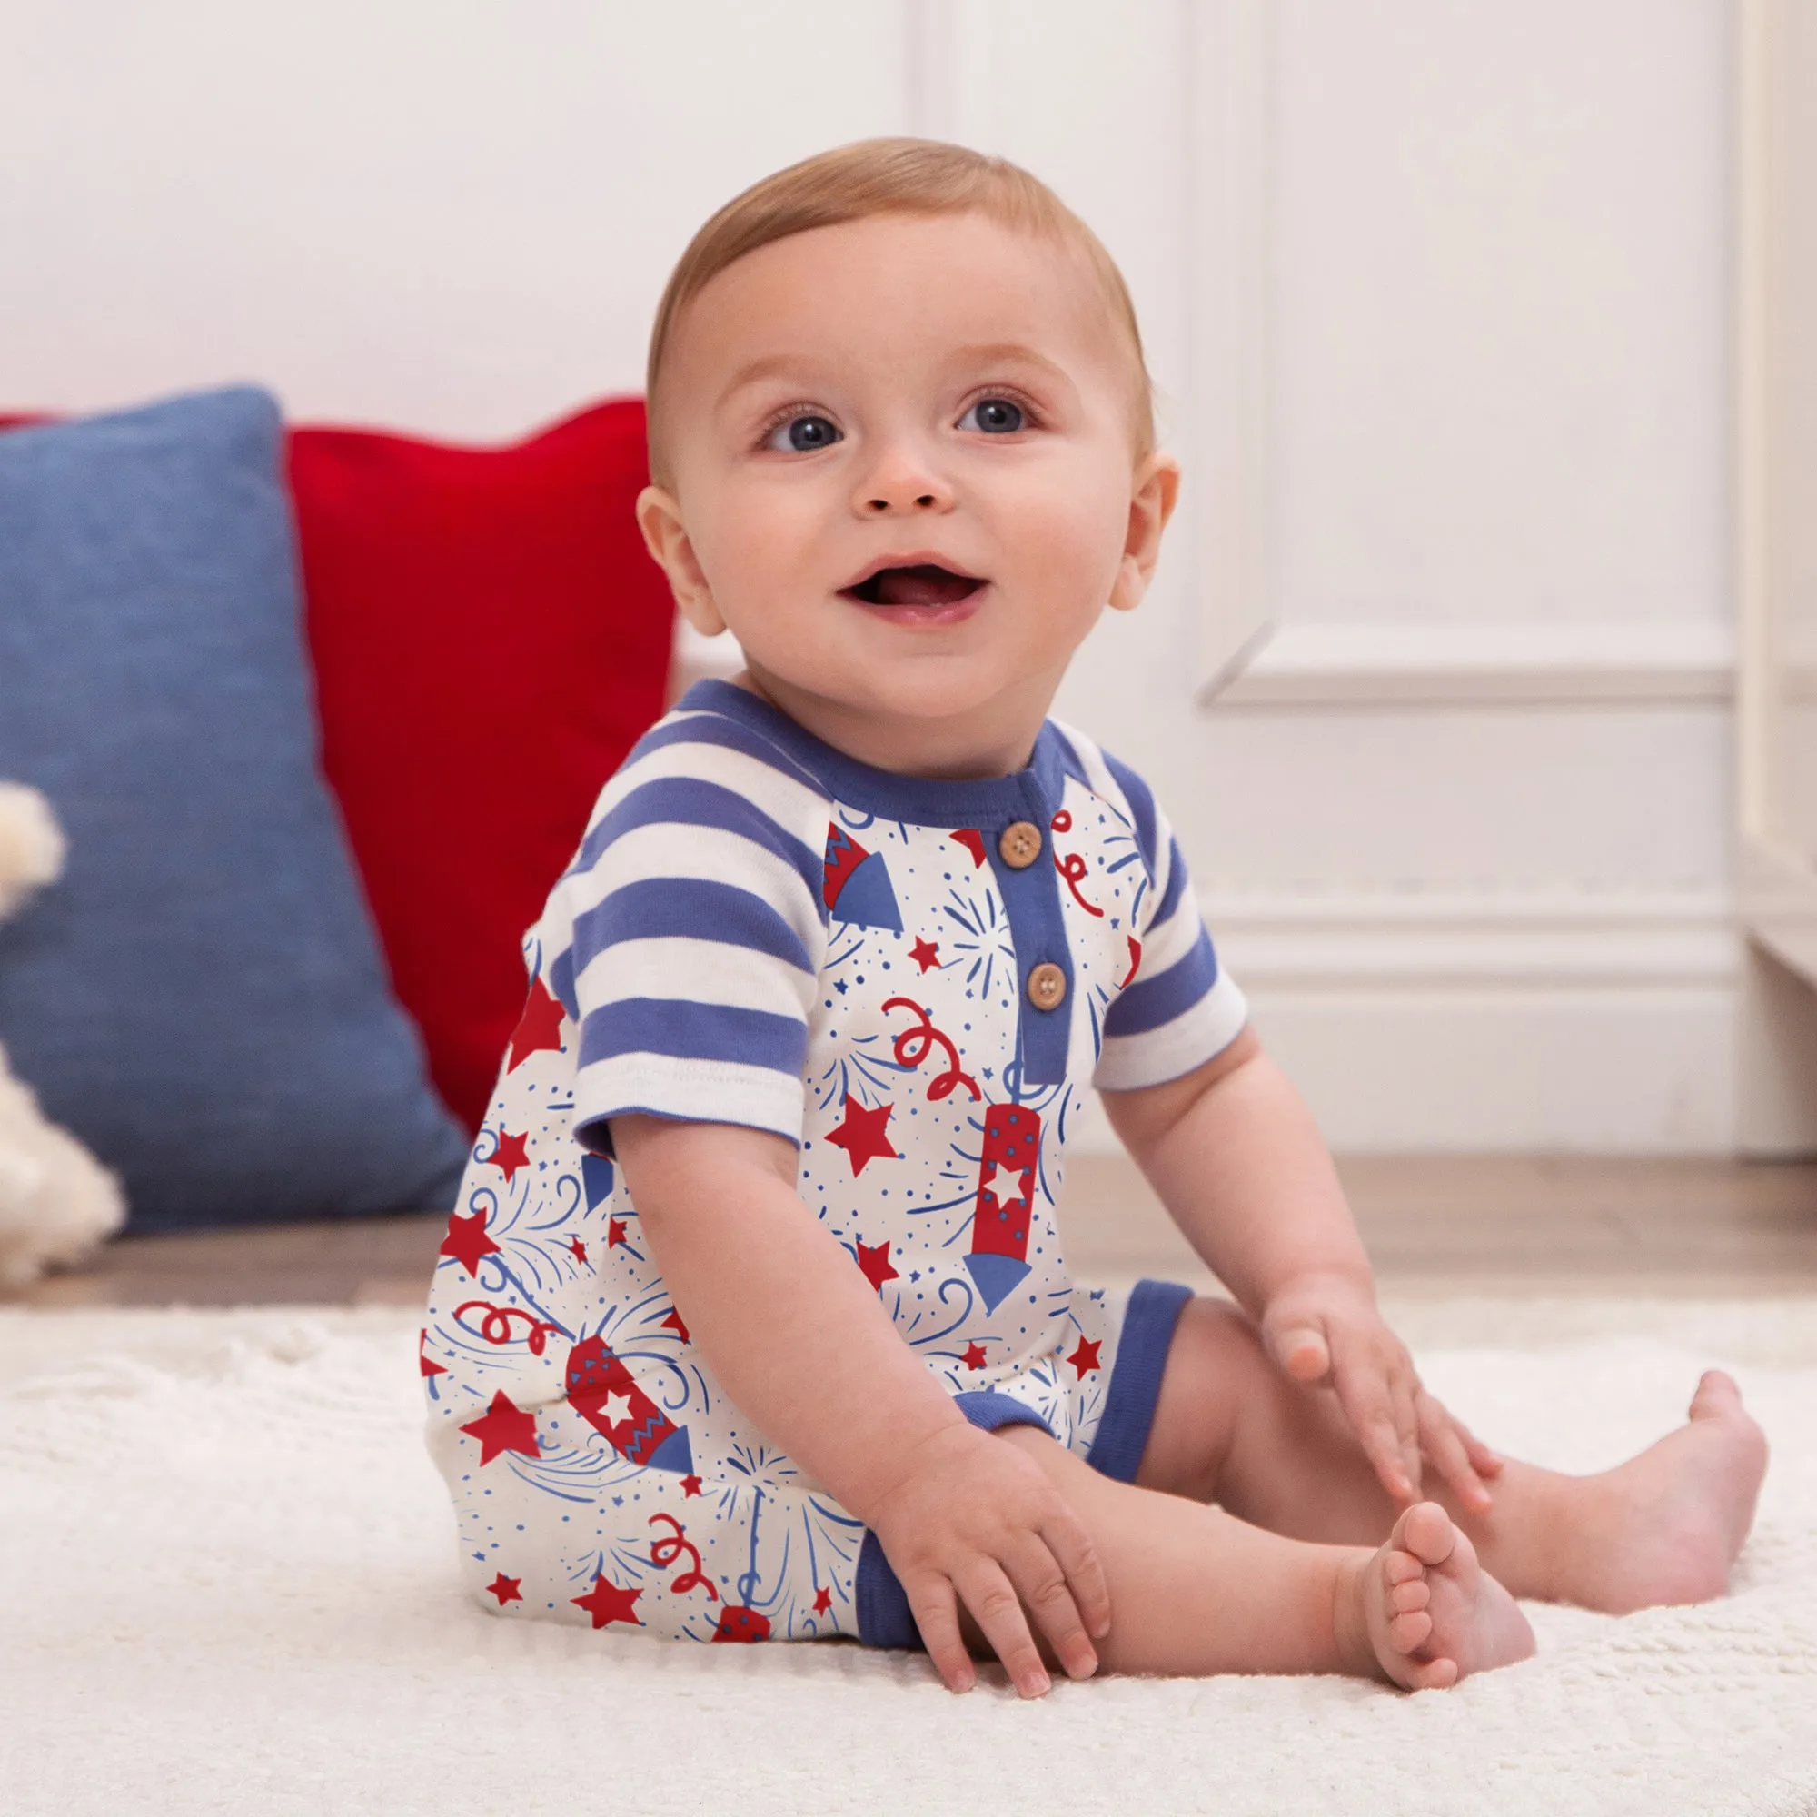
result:
[(1375, 1310), (1375, 1279), (1312, 1114), (1245, 1028), (1167, 1085), (1105, 1092), (1112, 1127), (1206, 1265), (1296, 1381), (1330, 1383), (1390, 1495), (1419, 1494), (1421, 1454), (1488, 1506), (1501, 1466), (1419, 1383)]

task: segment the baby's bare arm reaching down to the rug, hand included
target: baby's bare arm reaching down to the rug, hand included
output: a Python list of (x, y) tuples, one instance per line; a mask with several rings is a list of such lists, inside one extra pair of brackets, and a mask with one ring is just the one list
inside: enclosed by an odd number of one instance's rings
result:
[[(612, 1117), (658, 1266), (725, 1392), (872, 1528), (954, 1690), (974, 1679), (956, 1599), (1025, 1697), (1047, 1690), (1034, 1617), (1072, 1677), (1110, 1597), (1083, 1523), (1016, 1446), (968, 1425), (876, 1290), (794, 1190), (779, 1136)], [(1081, 1619), (1083, 1617), (1083, 1619)]]

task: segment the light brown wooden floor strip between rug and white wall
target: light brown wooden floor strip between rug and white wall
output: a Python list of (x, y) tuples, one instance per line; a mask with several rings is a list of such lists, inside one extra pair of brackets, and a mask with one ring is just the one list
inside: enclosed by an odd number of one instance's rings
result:
[[(1386, 1296), (1817, 1294), (1817, 1165), (1528, 1157), (1341, 1163)], [(1127, 1161), (1076, 1157), (1074, 1272), (1205, 1279)], [(442, 1217), (125, 1237), (31, 1306), (414, 1305)]]

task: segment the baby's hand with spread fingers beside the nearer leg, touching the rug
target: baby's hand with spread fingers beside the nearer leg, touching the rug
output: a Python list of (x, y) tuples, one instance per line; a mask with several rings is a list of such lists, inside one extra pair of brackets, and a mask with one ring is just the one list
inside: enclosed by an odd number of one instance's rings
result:
[(1067, 1675), (1097, 1670), (1092, 1637), (1110, 1632), (1110, 1592), (1085, 1523), (1014, 1445), (945, 1426), (869, 1510), (870, 1528), (950, 1690), (978, 1677), (959, 1635), (963, 1603), (1023, 1697), (1048, 1688), (1025, 1606)]

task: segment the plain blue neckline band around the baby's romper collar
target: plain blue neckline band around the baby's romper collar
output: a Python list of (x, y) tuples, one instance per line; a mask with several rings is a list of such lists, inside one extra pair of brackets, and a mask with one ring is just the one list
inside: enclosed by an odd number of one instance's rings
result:
[(681, 696), (678, 709), (736, 720), (818, 778), (834, 801), (876, 814), (878, 819), (979, 830), (1001, 830), (1014, 819), (1034, 819), (1045, 829), (1059, 807), (1067, 781), (1067, 743), (1052, 720), (1041, 721), (1027, 769), (1010, 776), (943, 781), (899, 776), (896, 770), (861, 763), (732, 681), (696, 681)]

